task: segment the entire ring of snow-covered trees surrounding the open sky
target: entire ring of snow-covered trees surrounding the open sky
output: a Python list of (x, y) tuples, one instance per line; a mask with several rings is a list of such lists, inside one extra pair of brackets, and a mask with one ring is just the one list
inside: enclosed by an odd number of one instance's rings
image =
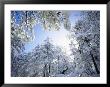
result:
[[(48, 31), (68, 30), (71, 55), (53, 45), (51, 38), (25, 53), (37, 24)], [(11, 11), (11, 76), (100, 76), (100, 11), (80, 11), (75, 24), (70, 11)]]

